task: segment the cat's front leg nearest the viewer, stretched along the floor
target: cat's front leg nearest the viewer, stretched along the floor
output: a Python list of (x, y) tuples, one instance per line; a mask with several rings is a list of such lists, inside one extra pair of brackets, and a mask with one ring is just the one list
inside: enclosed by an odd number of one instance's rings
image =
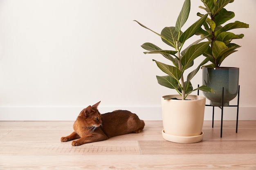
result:
[(108, 137), (105, 134), (93, 133), (90, 135), (85, 135), (76, 141), (72, 141), (72, 146), (79, 146), (91, 142), (103, 141), (106, 139), (108, 139)]

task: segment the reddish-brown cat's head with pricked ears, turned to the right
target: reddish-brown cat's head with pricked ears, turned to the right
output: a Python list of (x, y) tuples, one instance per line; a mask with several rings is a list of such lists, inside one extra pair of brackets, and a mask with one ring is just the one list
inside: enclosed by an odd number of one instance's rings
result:
[(99, 110), (97, 109), (100, 102), (88, 106), (87, 108), (84, 108), (81, 113), (79, 114), (80, 117), (82, 117), (88, 126), (94, 126), (99, 127), (101, 126), (101, 113), (99, 113)]

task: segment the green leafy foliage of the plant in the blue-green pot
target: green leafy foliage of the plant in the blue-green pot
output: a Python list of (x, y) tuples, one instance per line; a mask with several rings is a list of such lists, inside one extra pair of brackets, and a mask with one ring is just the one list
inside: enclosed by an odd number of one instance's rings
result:
[[(202, 37), (208, 35), (207, 39), (211, 43), (203, 55), (209, 57), (210, 62), (212, 62), (212, 64), (207, 65), (207, 67), (218, 68), (227, 56), (236, 52), (236, 49), (240, 47), (237, 44), (231, 43), (231, 41), (244, 37), (243, 34), (236, 35), (229, 32), (229, 30), (249, 28), (249, 24), (236, 21), (226, 24), (225, 26), (221, 25), (234, 18), (235, 13), (227, 11), (224, 8), (227, 4), (234, 2), (234, 0), (201, 1), (203, 2), (204, 7), (200, 6), (199, 8), (204, 9), (209, 13), (209, 18), (207, 18), (203, 24), (204, 29), (200, 28), (197, 35), (201, 35)], [(201, 13), (197, 13), (197, 15), (200, 17), (204, 16)]]

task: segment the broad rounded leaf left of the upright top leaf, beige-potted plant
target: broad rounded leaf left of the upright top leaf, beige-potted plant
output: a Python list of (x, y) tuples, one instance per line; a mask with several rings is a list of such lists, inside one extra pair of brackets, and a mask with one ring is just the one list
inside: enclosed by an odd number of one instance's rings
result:
[[(164, 43), (166, 43), (169, 46), (172, 46), (173, 48), (176, 48), (176, 41), (178, 40), (179, 33), (177, 31), (175, 31), (175, 27), (174, 26), (165, 27), (161, 31), (161, 35), (168, 39), (168, 40), (166, 40), (166, 39), (162, 38), (162, 41)], [(179, 46), (180, 45), (181, 45), (181, 43), (179, 44)]]

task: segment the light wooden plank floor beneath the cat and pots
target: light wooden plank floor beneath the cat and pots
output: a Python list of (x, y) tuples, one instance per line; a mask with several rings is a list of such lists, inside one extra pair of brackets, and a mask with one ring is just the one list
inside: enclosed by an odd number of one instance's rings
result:
[(204, 121), (203, 141), (162, 138), (162, 121), (106, 141), (61, 142), (73, 121), (0, 121), (0, 170), (256, 170), (256, 121)]

